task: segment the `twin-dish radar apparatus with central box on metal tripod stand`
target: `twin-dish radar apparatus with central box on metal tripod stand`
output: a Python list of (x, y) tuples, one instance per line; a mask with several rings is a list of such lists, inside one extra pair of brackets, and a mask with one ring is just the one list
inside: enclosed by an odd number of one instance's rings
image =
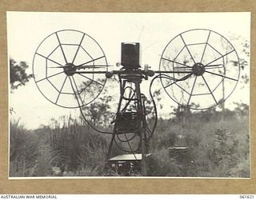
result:
[[(108, 162), (141, 162), (146, 175), (148, 145), (157, 126), (158, 114), (151, 87), (160, 78), (166, 94), (179, 105), (194, 110), (209, 109), (223, 103), (238, 83), (240, 66), (234, 46), (213, 30), (195, 29), (178, 34), (166, 45), (159, 70), (144, 69), (140, 63), (140, 44), (122, 43), (120, 70), (108, 70), (106, 55), (98, 42), (78, 30), (50, 34), (34, 54), (33, 74), (38, 90), (50, 102), (65, 108), (82, 107), (101, 94), (106, 78), (118, 76), (120, 97), (112, 122)], [(152, 129), (146, 122), (145, 95), (140, 84), (149, 77), (150, 97), (154, 104)], [(225, 87), (225, 90), (223, 88)], [(126, 152), (112, 158), (113, 146)]]

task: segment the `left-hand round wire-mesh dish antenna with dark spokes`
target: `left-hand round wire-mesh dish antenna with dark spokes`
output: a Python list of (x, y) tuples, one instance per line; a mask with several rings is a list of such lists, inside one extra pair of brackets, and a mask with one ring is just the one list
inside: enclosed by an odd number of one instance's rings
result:
[(60, 30), (45, 38), (34, 54), (34, 81), (55, 105), (77, 108), (93, 102), (106, 83), (106, 56), (98, 42), (78, 30)]

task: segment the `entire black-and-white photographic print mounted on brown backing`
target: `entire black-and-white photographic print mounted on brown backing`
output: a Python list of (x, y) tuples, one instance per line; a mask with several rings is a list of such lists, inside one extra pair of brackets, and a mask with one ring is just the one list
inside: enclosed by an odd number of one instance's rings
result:
[(9, 178), (250, 178), (250, 13), (6, 13)]

